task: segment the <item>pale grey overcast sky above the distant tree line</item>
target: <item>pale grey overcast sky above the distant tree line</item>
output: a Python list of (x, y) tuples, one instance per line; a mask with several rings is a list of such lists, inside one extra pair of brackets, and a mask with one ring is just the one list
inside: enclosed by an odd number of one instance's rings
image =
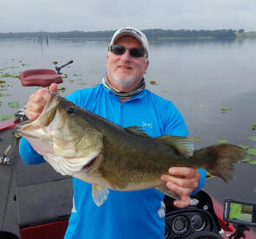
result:
[(256, 30), (256, 0), (0, 0), (0, 32)]

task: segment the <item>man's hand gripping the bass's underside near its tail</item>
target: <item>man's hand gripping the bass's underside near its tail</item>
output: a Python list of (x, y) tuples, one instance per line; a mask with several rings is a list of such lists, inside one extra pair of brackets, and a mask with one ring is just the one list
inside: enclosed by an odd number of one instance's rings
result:
[(181, 198), (174, 201), (174, 206), (178, 208), (189, 206), (189, 195), (198, 186), (200, 172), (187, 167), (172, 167), (168, 172), (168, 175), (161, 176), (161, 180), (166, 184), (168, 190), (174, 191)]

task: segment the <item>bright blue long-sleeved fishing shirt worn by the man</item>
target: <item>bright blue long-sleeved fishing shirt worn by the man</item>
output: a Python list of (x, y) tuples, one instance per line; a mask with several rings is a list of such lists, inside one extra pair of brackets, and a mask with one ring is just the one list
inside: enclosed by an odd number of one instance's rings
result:
[[(125, 102), (102, 84), (77, 90), (66, 98), (120, 126), (140, 126), (152, 137), (188, 134), (184, 119), (174, 104), (147, 89)], [(44, 162), (43, 157), (23, 138), (20, 154), (28, 164)], [(199, 171), (200, 184), (196, 191), (200, 190), (206, 178), (205, 171)], [(73, 209), (65, 239), (164, 238), (164, 216), (159, 213), (164, 197), (161, 191), (110, 190), (108, 199), (98, 207), (93, 201), (91, 184), (73, 178), (73, 188)]]

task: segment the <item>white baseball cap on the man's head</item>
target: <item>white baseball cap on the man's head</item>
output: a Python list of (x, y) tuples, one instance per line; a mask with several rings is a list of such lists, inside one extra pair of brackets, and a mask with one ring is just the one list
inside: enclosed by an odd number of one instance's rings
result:
[(148, 56), (148, 39), (147, 36), (145, 36), (145, 34), (141, 30), (130, 27), (118, 29), (112, 36), (109, 46), (113, 45), (115, 41), (121, 36), (135, 36), (135, 38), (137, 38), (141, 42), (142, 48), (145, 48), (146, 55)]

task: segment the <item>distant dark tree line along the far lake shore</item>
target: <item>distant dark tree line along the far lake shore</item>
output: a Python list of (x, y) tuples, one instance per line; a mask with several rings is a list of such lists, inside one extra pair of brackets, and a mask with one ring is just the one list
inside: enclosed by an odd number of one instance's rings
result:
[[(105, 31), (68, 31), (68, 32), (9, 32), (0, 33), (0, 38), (84, 38), (84, 39), (110, 39), (115, 30)], [(216, 30), (187, 30), (187, 29), (145, 29), (143, 32), (148, 40), (161, 39), (233, 39), (236, 37), (236, 31), (233, 29), (216, 29)]]

